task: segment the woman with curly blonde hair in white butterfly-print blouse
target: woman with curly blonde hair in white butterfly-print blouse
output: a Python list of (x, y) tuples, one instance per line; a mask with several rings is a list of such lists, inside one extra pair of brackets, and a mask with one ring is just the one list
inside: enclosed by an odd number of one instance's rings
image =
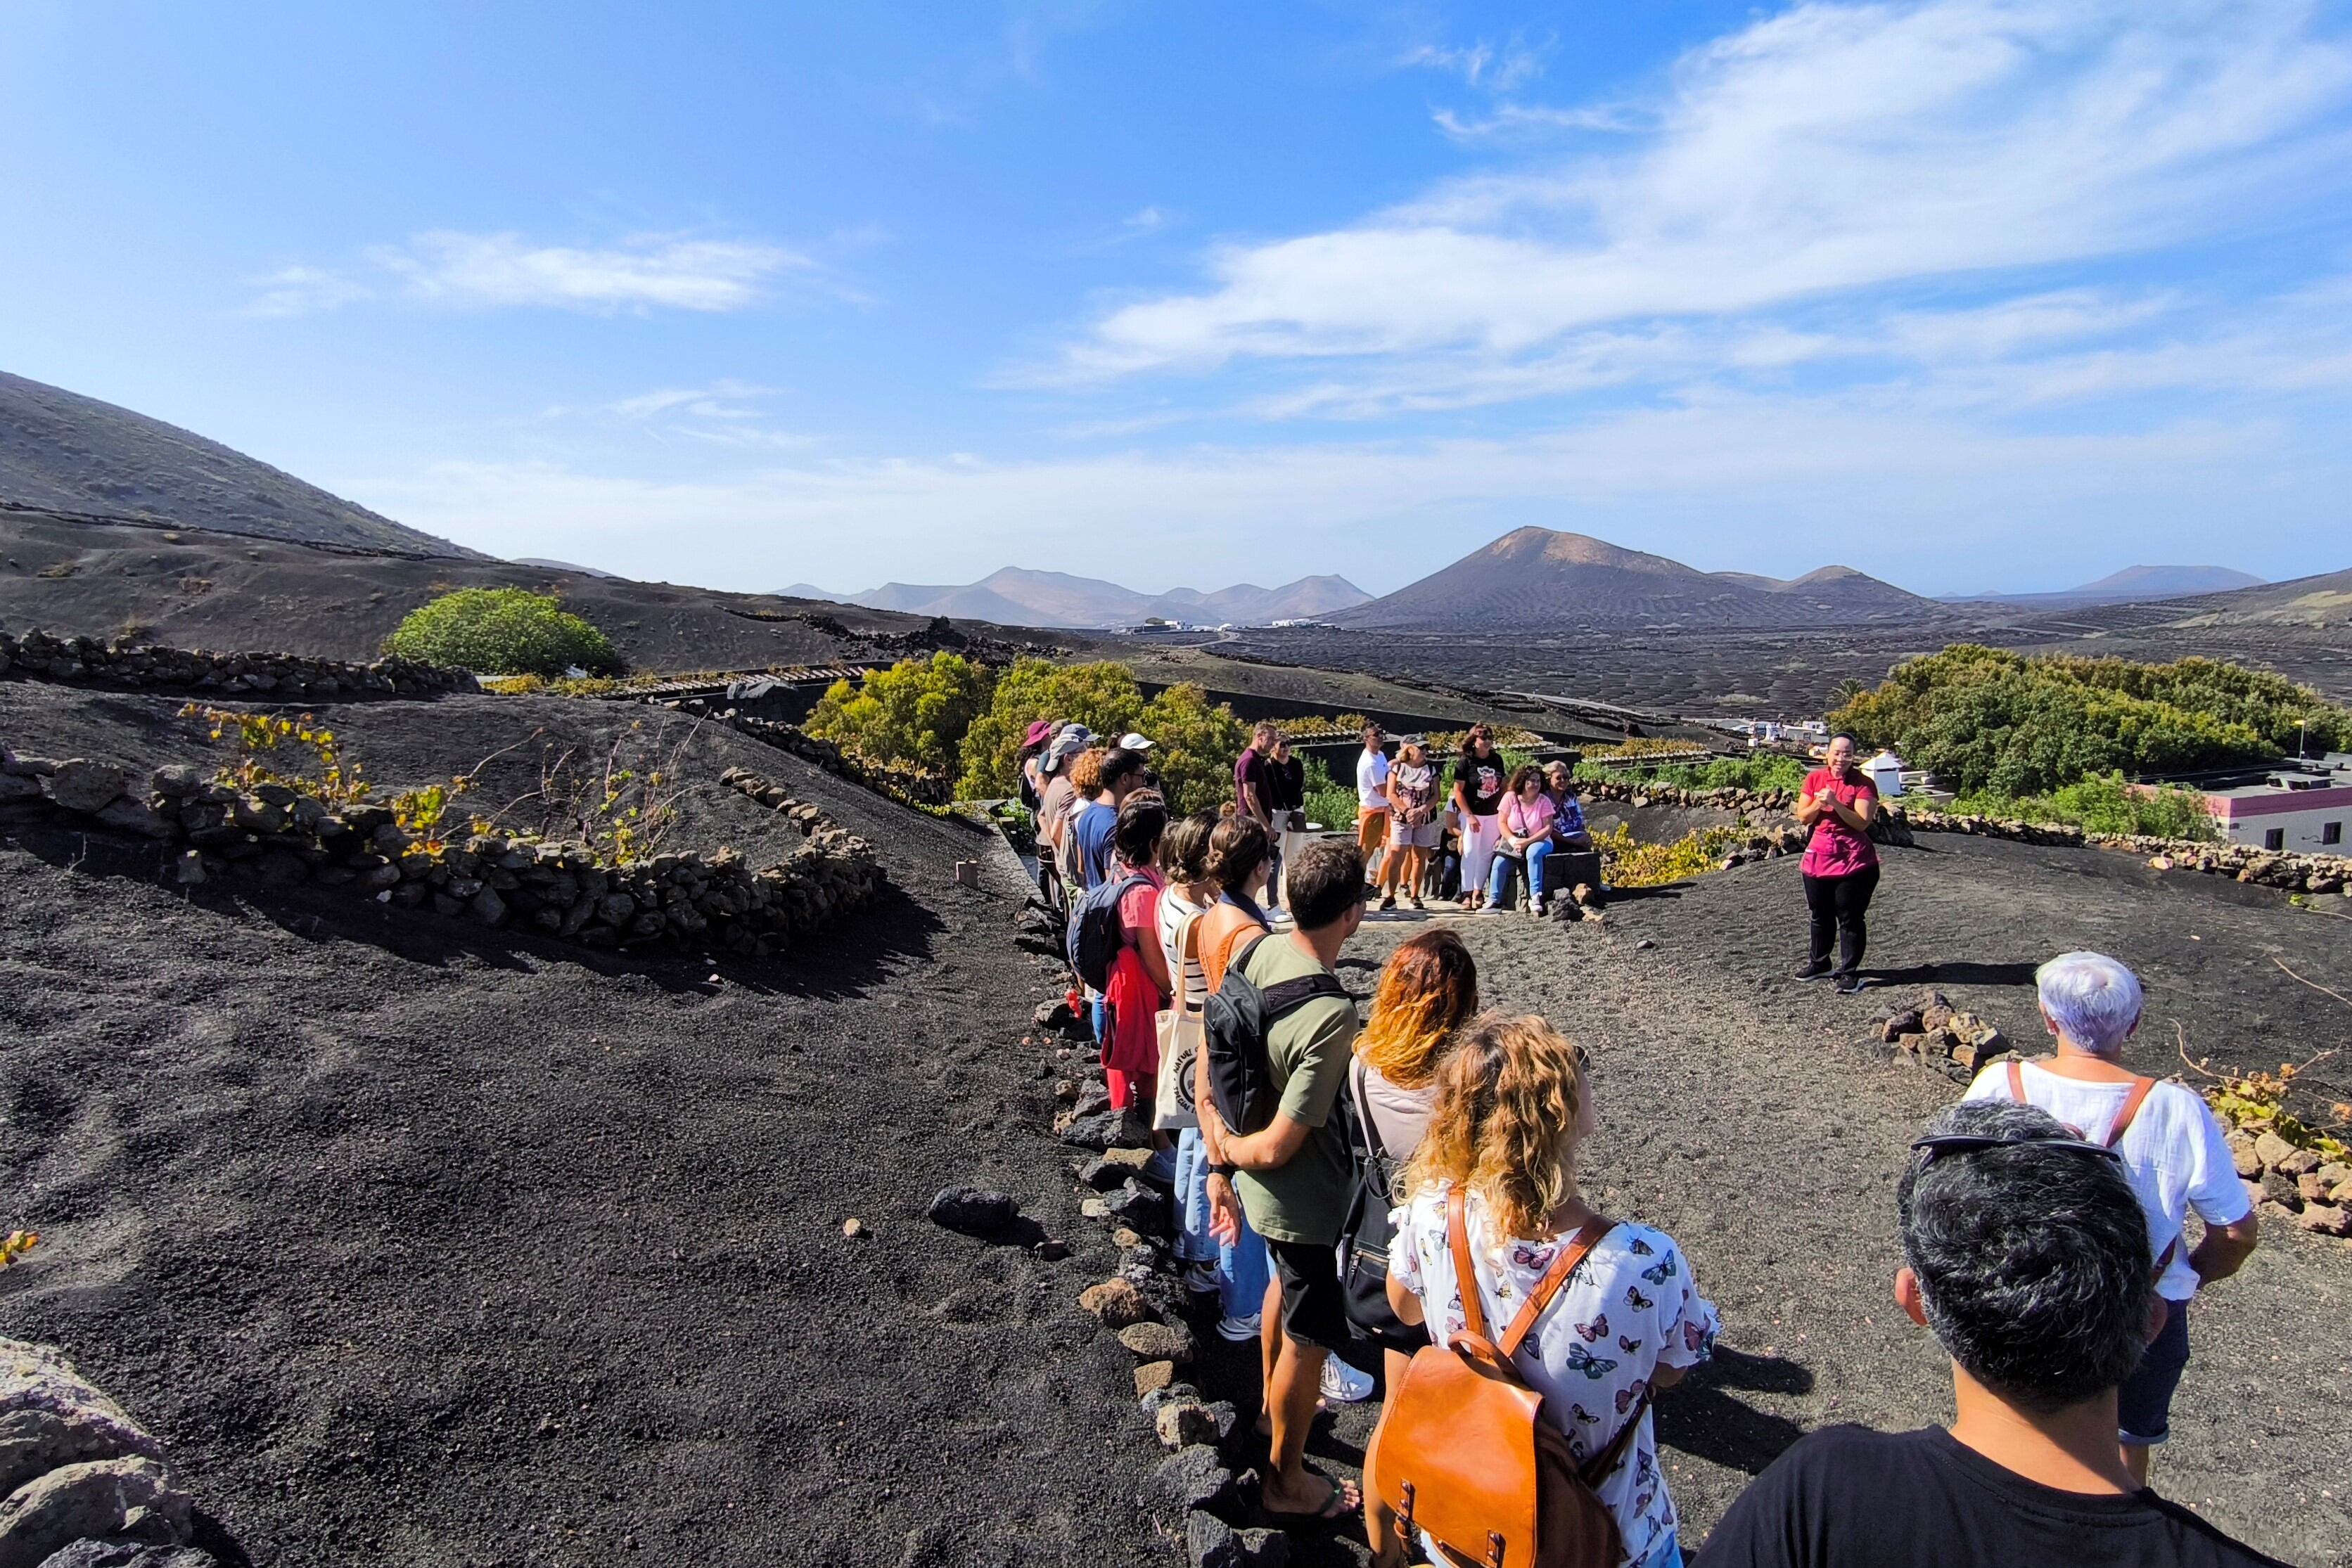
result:
[[(1595, 1490), (1616, 1516), (1625, 1563), (1679, 1568), (1649, 1399), (1708, 1359), (1715, 1307), (1698, 1295), (1672, 1237), (1604, 1220), (1585, 1204), (1576, 1152), (1592, 1128), (1578, 1046), (1543, 1018), (1475, 1020), (1437, 1067), (1437, 1107), (1404, 1171), (1388, 1300), (1439, 1347), (1470, 1331), (1451, 1255), (1456, 1220), (1489, 1333), (1550, 1288), (1519, 1342), (1519, 1375), (1543, 1394), (1543, 1418), (1566, 1434), (1578, 1462), (1632, 1427)], [(1576, 1248), (1585, 1248), (1581, 1262)], [(1555, 1262), (1564, 1281), (1550, 1279)]]

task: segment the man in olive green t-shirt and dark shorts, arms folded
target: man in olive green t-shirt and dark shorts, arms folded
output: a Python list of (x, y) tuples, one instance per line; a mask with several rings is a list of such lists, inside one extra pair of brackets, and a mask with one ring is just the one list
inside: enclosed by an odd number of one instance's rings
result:
[[(1291, 865), (1289, 893), (1296, 926), (1261, 938), (1242, 964), (1258, 990), (1331, 971), (1338, 950), (1364, 922), (1364, 853), (1348, 839), (1308, 844)], [(1352, 1044), (1352, 999), (1303, 1001), (1265, 1032), (1279, 1095), (1272, 1121), (1247, 1135), (1209, 1126), (1211, 1145), (1223, 1147), (1223, 1164), (1209, 1168), (1211, 1225), (1221, 1234), (1240, 1234), (1232, 1220), (1240, 1204), (1275, 1258), (1261, 1340), (1265, 1420), (1272, 1427), (1261, 1502), (1277, 1523), (1336, 1519), (1362, 1507), (1355, 1486), (1305, 1467), (1324, 1361), (1348, 1340), (1334, 1248), (1348, 1218), (1355, 1157), (1331, 1112), (1348, 1081)], [(1207, 1100), (1202, 1121), (1216, 1121)]]

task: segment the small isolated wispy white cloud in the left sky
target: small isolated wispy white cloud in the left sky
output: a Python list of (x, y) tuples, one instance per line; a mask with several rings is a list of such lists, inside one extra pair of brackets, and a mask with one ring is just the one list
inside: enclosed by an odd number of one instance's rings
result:
[(294, 266), (261, 280), (247, 315), (303, 315), (397, 296), (456, 310), (748, 310), (783, 277), (818, 275), (807, 254), (760, 240), (633, 235), (619, 244), (532, 244), (515, 233), (428, 230), (362, 252), (360, 266)]

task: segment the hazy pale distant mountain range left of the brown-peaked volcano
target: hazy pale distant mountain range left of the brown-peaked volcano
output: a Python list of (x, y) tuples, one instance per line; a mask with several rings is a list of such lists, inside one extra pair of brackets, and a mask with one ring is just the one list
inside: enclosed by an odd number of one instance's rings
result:
[(1068, 625), (1112, 628), (1141, 625), (1143, 621), (1190, 621), (1207, 625), (1265, 625), (1268, 621), (1294, 621), (1301, 616), (1329, 616), (1331, 611), (1364, 604), (1369, 592), (1341, 576), (1308, 576), (1282, 588), (1258, 588), (1240, 583), (1200, 592), (1197, 588), (1171, 588), (1169, 592), (1136, 592), (1101, 578), (1070, 576), (1065, 571), (1030, 571), (1007, 567), (978, 583), (931, 585), (931, 583), (882, 583), (866, 592), (826, 592), (809, 583), (793, 583), (783, 590), (797, 599), (835, 599), (840, 604), (863, 604), (866, 609), (894, 609), (915, 616), (948, 616), (953, 621), (995, 621), (1000, 625)]

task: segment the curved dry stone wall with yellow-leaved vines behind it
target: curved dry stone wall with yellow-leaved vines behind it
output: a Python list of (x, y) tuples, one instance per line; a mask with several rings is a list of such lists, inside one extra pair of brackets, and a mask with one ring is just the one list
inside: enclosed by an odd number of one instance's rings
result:
[(233, 790), (186, 764), (134, 778), (87, 757), (21, 757), (0, 745), (0, 813), (176, 846), (181, 884), (315, 884), (480, 926), (529, 926), (583, 947), (661, 943), (767, 954), (873, 900), (873, 846), (816, 806), (729, 769), (722, 783), (783, 811), (807, 837), (753, 870), (731, 849), (607, 865), (586, 844), (475, 835), (437, 849), (386, 806), (325, 802), (285, 785)]

